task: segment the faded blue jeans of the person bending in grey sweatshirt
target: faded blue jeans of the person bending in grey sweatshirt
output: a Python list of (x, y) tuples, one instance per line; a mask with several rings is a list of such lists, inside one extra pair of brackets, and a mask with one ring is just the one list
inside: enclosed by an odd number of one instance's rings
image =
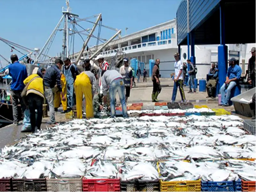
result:
[(110, 110), (111, 110), (111, 117), (116, 116), (116, 93), (118, 92), (122, 110), (123, 110), (123, 116), (128, 117), (126, 103), (125, 103), (125, 95), (124, 95), (124, 81), (123, 79), (115, 79), (111, 82), (109, 86), (109, 95), (110, 95)]

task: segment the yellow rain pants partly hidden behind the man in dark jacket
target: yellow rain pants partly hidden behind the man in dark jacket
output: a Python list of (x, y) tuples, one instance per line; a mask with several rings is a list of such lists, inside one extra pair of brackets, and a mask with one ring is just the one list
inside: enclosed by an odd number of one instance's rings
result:
[(61, 84), (62, 92), (63, 92), (66, 100), (63, 101), (61, 99), (60, 92), (57, 92), (56, 94), (54, 94), (54, 108), (59, 108), (60, 107), (60, 101), (61, 101), (63, 111), (66, 111), (67, 107), (68, 107), (67, 106), (67, 81), (66, 81), (66, 78), (63, 74), (61, 74), (61, 77), (60, 77), (60, 84)]

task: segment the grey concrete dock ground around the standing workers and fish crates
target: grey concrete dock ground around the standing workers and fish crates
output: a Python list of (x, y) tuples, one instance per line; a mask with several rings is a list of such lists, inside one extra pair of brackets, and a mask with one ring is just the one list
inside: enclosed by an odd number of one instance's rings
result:
[[(158, 96), (159, 101), (164, 101), (164, 102), (170, 102), (171, 97), (172, 97), (172, 89), (173, 89), (173, 81), (171, 79), (162, 79), (161, 80), (162, 84), (162, 91)], [(152, 81), (151, 78), (148, 79), (147, 83), (137, 83), (136, 81), (136, 87), (132, 88), (131, 90), (131, 95), (130, 98), (128, 99), (128, 104), (131, 103), (152, 103), (151, 102), (151, 93), (152, 93)], [(193, 104), (197, 105), (207, 105), (209, 108), (224, 108), (227, 111), (234, 111), (234, 107), (220, 107), (218, 106), (218, 101), (217, 99), (211, 99), (207, 98), (207, 93), (206, 92), (197, 92), (197, 93), (187, 93), (189, 90), (188, 86), (184, 87), (186, 99), (189, 100), (189, 102), (192, 102)], [(180, 98), (180, 93), (179, 91), (177, 92), (177, 98), (176, 101), (179, 101)], [(119, 101), (118, 95), (117, 95), (117, 101)], [(55, 113), (55, 118), (56, 121), (61, 123), (67, 121), (65, 118), (65, 114), (61, 114), (60, 111), (62, 109), (59, 108), (59, 111)], [(246, 118), (243, 116), (240, 116), (242, 118)], [(50, 118), (43, 118), (42, 126), (41, 128), (44, 129), (47, 126), (50, 126), (49, 124)], [(0, 128), (0, 148), (3, 148), (5, 145), (12, 145), (17, 140), (19, 140), (22, 137), (26, 137), (26, 134), (29, 133), (21, 133), (21, 126), (22, 126), (22, 121), (20, 121), (19, 126), (14, 126), (13, 124), (5, 126), (3, 128)]]

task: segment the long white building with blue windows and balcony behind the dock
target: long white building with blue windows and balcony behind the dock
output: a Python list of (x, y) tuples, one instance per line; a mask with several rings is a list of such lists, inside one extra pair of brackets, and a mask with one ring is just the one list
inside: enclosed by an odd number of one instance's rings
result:
[[(98, 49), (100, 48), (99, 45)], [(240, 52), (240, 63), (245, 59), (248, 63), (249, 51), (255, 44), (248, 45), (228, 45), (228, 51)], [(174, 53), (178, 52), (176, 39), (176, 20), (170, 20), (159, 25), (137, 31), (135, 33), (119, 37), (105, 47), (100, 54), (105, 60), (109, 61), (116, 55), (117, 50), (121, 48), (129, 60), (136, 58), (145, 63), (145, 68), (149, 69), (149, 60), (159, 58), (160, 74), (162, 77), (170, 77), (174, 72)], [(95, 47), (90, 48), (93, 52)], [(83, 58), (90, 57), (89, 52), (84, 51)], [(75, 59), (78, 53), (76, 53)], [(195, 46), (196, 64), (198, 68), (197, 78), (205, 78), (211, 68), (211, 62), (218, 61), (218, 45), (199, 45)], [(188, 59), (187, 46), (181, 46), (180, 59), (186, 62)], [(242, 67), (242, 66), (241, 66)], [(244, 67), (242, 67), (244, 68)], [(245, 70), (247, 66), (245, 65)], [(243, 70), (244, 71), (244, 70)]]

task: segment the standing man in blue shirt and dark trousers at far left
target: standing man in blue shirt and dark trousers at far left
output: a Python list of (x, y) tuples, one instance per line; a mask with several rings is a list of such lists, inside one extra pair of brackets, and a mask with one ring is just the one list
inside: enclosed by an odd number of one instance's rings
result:
[(11, 97), (12, 97), (12, 114), (13, 114), (13, 124), (19, 124), (19, 113), (18, 104), (20, 100), (20, 106), (22, 113), (24, 113), (26, 106), (21, 98), (21, 92), (25, 85), (23, 81), (28, 77), (27, 69), (25, 65), (22, 65), (18, 61), (18, 56), (16, 54), (11, 55), (12, 64), (9, 66), (9, 75), (12, 77), (11, 83)]

